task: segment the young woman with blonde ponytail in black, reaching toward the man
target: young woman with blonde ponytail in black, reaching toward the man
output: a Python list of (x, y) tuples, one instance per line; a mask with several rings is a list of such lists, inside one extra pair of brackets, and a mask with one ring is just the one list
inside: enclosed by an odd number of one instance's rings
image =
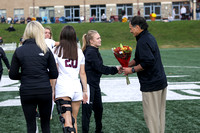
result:
[(89, 132), (89, 122), (92, 110), (96, 122), (96, 133), (102, 133), (102, 113), (103, 105), (101, 99), (100, 78), (102, 74), (121, 73), (118, 67), (108, 67), (103, 65), (99, 47), (101, 46), (101, 37), (95, 30), (88, 31), (83, 35), (83, 47), (85, 55), (85, 72), (87, 75), (87, 83), (90, 87), (90, 102), (82, 104), (82, 133)]

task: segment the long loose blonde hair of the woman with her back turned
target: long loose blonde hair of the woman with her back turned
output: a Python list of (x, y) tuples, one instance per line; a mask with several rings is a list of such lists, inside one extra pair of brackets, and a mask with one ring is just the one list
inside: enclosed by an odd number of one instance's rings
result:
[(44, 27), (37, 21), (31, 21), (27, 24), (23, 39), (35, 39), (36, 44), (44, 53), (48, 51), (44, 40)]

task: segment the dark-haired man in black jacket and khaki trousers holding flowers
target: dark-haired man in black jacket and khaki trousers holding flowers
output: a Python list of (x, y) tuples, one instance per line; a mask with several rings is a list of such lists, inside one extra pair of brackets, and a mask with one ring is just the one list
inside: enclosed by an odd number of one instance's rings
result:
[(123, 68), (125, 75), (137, 73), (142, 91), (144, 119), (150, 133), (164, 133), (167, 78), (156, 39), (148, 32), (143, 17), (135, 16), (129, 23), (136, 37), (135, 58)]

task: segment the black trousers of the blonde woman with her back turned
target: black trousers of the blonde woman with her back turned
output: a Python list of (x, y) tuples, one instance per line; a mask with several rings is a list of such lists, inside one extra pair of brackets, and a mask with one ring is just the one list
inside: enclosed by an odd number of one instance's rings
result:
[(42, 133), (50, 133), (52, 94), (21, 96), (21, 104), (27, 124), (27, 133), (36, 132), (36, 108), (40, 113)]

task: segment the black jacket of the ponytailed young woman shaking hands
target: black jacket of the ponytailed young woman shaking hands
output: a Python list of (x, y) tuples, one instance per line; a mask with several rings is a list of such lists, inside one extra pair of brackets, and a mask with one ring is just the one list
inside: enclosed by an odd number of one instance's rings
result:
[(85, 72), (87, 75), (87, 82), (93, 87), (99, 87), (100, 78), (102, 74), (116, 74), (118, 70), (116, 67), (108, 67), (103, 65), (103, 60), (99, 49), (93, 46), (88, 46), (84, 51), (85, 55)]

